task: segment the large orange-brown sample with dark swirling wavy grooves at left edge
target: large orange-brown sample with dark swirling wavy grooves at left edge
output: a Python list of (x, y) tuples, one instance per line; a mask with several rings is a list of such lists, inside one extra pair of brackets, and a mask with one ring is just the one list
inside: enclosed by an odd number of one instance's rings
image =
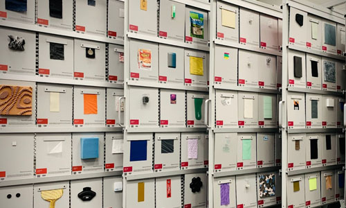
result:
[(0, 114), (31, 116), (33, 87), (0, 85)]

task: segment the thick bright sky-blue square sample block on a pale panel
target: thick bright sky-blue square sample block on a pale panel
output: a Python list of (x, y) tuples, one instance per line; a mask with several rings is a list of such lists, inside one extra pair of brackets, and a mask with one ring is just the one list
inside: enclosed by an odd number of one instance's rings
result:
[(80, 138), (80, 159), (98, 158), (98, 138)]

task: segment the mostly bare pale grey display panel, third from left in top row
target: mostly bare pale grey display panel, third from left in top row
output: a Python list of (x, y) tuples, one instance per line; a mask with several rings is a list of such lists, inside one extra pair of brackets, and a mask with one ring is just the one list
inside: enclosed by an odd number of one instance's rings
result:
[(75, 31), (90, 35), (106, 36), (107, 1), (100, 0), (95, 5), (89, 1), (75, 1)]

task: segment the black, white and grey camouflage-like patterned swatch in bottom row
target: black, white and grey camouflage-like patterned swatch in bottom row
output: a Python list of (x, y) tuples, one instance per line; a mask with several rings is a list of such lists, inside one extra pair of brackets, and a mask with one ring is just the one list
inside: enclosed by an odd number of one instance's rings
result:
[(259, 175), (260, 198), (275, 196), (275, 173)]

